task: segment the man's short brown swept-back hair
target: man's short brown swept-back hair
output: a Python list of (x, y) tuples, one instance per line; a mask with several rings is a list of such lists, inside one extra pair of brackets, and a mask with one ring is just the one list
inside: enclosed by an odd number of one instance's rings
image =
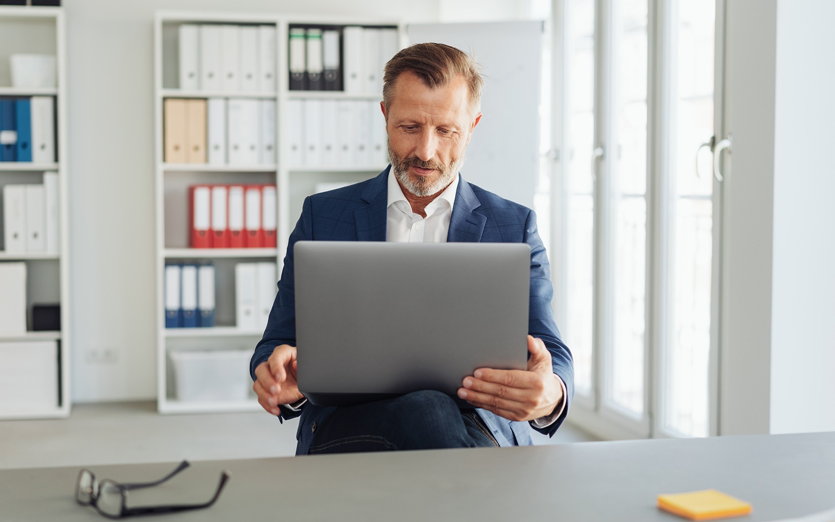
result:
[(415, 43), (388, 60), (382, 76), (382, 103), (388, 109), (394, 96), (394, 84), (401, 73), (417, 74), (429, 89), (444, 87), (459, 75), (469, 89), (469, 109), (473, 114), (481, 107), (484, 79), (478, 63), (462, 50), (444, 43)]

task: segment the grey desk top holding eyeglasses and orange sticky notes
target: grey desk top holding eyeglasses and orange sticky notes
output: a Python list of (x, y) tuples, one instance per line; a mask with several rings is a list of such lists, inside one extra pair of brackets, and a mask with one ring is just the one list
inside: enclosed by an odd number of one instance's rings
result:
[[(174, 466), (93, 471), (129, 482)], [(222, 469), (232, 478), (215, 506), (155, 519), (681, 520), (656, 494), (706, 488), (751, 502), (746, 521), (835, 507), (835, 433), (208, 461), (129, 504), (208, 499)], [(0, 520), (102, 520), (74, 503), (77, 473), (0, 471)]]

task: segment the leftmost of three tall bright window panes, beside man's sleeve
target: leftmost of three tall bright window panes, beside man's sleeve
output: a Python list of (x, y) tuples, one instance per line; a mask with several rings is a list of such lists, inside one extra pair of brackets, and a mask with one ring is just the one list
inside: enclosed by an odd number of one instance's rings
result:
[(566, 5), (566, 204), (565, 252), (568, 299), (563, 337), (574, 354), (574, 388), (592, 390), (592, 317), (594, 285), (595, 200), (591, 151), (595, 143), (595, 2)]

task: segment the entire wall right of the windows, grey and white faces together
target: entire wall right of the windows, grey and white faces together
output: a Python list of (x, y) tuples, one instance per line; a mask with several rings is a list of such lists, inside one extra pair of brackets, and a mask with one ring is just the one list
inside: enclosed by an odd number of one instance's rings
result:
[(835, 16), (728, 0), (721, 434), (835, 430)]

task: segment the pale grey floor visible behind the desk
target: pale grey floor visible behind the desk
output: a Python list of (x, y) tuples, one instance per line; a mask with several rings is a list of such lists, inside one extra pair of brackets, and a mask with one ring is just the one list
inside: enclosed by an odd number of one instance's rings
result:
[[(290, 456), (297, 426), (266, 413), (160, 415), (150, 402), (79, 404), (67, 419), (0, 421), (0, 469)], [(596, 440), (570, 425), (551, 439), (536, 435), (538, 444)]]

